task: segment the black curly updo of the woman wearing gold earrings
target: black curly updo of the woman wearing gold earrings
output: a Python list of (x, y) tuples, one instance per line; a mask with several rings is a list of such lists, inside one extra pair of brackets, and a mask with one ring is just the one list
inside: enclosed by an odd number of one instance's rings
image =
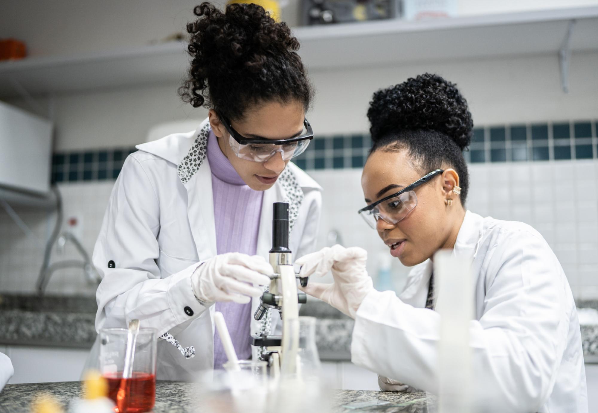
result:
[(408, 150), (422, 175), (449, 166), (459, 174), (465, 205), (469, 174), (463, 150), (471, 142), (474, 123), (454, 83), (423, 74), (374, 93), (368, 110), (373, 147)]

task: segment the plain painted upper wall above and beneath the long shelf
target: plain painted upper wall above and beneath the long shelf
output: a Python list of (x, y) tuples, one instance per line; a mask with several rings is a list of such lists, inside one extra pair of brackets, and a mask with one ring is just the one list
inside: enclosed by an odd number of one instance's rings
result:
[[(50, 5), (4, 0), (2, 10), (9, 12), (0, 13), (0, 38), (22, 38), (32, 56), (92, 53), (143, 45), (184, 28), (197, 3), (59, 0)], [(292, 17), (289, 13), (297, 4), (297, 0), (292, 0), (283, 17)], [(462, 14), (588, 4), (598, 4), (598, 0), (459, 1)], [(426, 71), (457, 83), (477, 124), (589, 119), (598, 114), (596, 51), (573, 54), (569, 93), (563, 93), (560, 86), (556, 54), (377, 67), (364, 62), (364, 65), (364, 68), (310, 73), (318, 92), (309, 114), (316, 133), (367, 131), (365, 113), (372, 93)], [(56, 122), (56, 151), (130, 146), (143, 141), (148, 129), (156, 123), (181, 119), (199, 122), (205, 116), (205, 110), (195, 110), (180, 101), (178, 86), (169, 83), (37, 99), (47, 108), (40, 114), (51, 116)], [(11, 103), (32, 110), (18, 99)]]

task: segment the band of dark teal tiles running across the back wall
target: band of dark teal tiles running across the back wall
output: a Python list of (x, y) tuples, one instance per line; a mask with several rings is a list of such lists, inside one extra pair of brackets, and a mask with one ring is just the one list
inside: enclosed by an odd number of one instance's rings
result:
[[(468, 163), (535, 162), (547, 160), (597, 159), (598, 120), (534, 122), (476, 126), (468, 150)], [(310, 170), (363, 168), (371, 147), (367, 133), (317, 136), (307, 150), (294, 159)], [(135, 148), (54, 153), (54, 183), (114, 180), (124, 159)]]

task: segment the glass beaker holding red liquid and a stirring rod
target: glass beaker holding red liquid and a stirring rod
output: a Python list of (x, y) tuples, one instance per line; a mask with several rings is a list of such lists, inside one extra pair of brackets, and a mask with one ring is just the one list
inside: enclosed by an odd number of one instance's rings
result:
[[(128, 333), (127, 329), (100, 330), (100, 372), (108, 380), (108, 397), (121, 408), (115, 411), (148, 412), (155, 403), (156, 332), (155, 329), (139, 329), (133, 353), (133, 373), (130, 378), (123, 378)], [(125, 394), (119, 404), (117, 394), (121, 388)]]

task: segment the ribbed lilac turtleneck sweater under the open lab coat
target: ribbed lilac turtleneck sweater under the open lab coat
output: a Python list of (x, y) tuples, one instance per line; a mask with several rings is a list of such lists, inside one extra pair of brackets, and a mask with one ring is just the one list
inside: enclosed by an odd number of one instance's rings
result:
[[(243, 253), (255, 255), (261, 204), (264, 193), (252, 190), (237, 174), (230, 161), (220, 150), (218, 138), (208, 136), (208, 162), (212, 169), (212, 195), (216, 225), (216, 253)], [(222, 312), (234, 350), (239, 360), (251, 357), (251, 302), (216, 302), (216, 311)], [(220, 336), (214, 334), (214, 368), (221, 369), (227, 362)]]

